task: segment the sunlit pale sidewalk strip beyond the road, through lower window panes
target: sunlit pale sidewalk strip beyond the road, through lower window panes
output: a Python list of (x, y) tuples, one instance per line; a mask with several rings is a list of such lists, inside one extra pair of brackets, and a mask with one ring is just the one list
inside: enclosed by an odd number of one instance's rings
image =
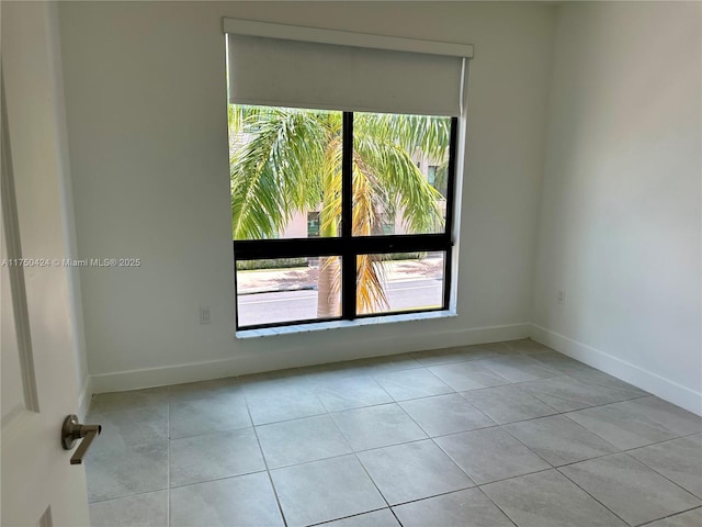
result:
[[(388, 260), (383, 262), (383, 268), (385, 279), (388, 282), (434, 280), (443, 277), (443, 258)], [(318, 274), (319, 268), (317, 267), (239, 271), (237, 273), (237, 289), (239, 294), (316, 290)]]

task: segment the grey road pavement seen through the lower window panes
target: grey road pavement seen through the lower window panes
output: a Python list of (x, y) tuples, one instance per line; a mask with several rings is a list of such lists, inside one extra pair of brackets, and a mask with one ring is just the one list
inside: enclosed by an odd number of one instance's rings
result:
[[(388, 311), (433, 307), (441, 305), (441, 280), (400, 280), (389, 282), (386, 293)], [(317, 316), (317, 291), (279, 291), (240, 294), (239, 326), (301, 321)]]

